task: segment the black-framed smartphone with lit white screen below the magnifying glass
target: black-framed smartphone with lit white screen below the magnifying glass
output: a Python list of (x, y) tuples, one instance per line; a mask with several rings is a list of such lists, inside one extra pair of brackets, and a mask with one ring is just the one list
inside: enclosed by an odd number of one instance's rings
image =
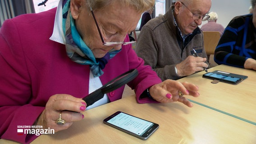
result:
[(148, 139), (159, 128), (159, 125), (154, 122), (120, 111), (105, 118), (103, 122), (143, 140)]

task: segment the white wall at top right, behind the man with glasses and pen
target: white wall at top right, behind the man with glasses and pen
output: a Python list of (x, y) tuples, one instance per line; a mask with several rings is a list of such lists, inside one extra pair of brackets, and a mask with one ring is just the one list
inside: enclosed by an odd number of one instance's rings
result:
[[(212, 0), (209, 12), (214, 11), (217, 13), (217, 23), (226, 27), (233, 17), (248, 14), (250, 6), (251, 0)], [(207, 23), (207, 21), (203, 22), (201, 25), (205, 23)]]

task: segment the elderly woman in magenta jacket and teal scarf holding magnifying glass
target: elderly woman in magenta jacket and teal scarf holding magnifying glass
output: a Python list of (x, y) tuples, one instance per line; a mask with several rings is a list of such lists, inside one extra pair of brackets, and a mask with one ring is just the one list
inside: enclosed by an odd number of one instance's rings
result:
[[(80, 121), (81, 98), (131, 69), (138, 103), (181, 102), (198, 87), (161, 81), (132, 49), (128, 33), (154, 0), (60, 0), (57, 8), (6, 20), (0, 31), (0, 137), (30, 143), (17, 126), (55, 132)], [(128, 44), (128, 45), (127, 45)], [(124, 86), (88, 108), (121, 99)]]

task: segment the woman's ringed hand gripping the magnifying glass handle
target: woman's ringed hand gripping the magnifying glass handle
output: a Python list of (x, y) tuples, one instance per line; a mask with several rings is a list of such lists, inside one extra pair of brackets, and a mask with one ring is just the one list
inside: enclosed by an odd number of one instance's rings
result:
[[(50, 127), (55, 132), (65, 130), (73, 124), (73, 121), (80, 121), (84, 115), (80, 112), (85, 111), (86, 103), (82, 99), (75, 98), (69, 94), (55, 94), (46, 103), (45, 110), (38, 117), (37, 125), (43, 128)], [(66, 122), (64, 125), (56, 123), (61, 113), (61, 119)]]

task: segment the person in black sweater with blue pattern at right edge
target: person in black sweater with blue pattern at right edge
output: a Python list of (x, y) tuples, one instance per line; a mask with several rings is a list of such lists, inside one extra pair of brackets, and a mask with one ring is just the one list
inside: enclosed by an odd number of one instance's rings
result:
[(252, 14), (233, 18), (215, 49), (218, 64), (256, 70), (256, 0), (251, 0)]

